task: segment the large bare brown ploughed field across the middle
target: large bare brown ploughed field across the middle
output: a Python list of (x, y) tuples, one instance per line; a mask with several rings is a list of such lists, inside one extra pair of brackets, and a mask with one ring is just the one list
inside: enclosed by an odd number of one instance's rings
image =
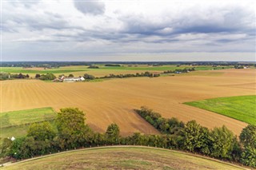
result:
[(246, 123), (182, 103), (256, 94), (255, 76), (256, 69), (227, 69), (174, 77), (138, 77), (86, 83), (2, 81), (2, 112), (49, 106), (57, 110), (78, 107), (86, 113), (86, 122), (99, 132), (115, 122), (123, 135), (131, 132), (157, 133), (133, 111), (146, 105), (163, 117), (196, 120), (209, 128), (226, 125), (239, 134)]

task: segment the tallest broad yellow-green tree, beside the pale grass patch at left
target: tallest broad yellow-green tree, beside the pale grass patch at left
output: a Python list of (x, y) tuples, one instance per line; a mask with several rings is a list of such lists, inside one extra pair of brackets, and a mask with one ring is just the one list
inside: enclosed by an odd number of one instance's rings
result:
[(62, 148), (78, 148), (85, 142), (85, 113), (77, 108), (61, 109), (56, 118), (59, 141)]

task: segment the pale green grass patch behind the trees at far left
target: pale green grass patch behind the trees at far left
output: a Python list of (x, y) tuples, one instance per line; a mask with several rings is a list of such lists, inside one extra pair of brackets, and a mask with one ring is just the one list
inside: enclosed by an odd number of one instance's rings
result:
[(30, 124), (41, 121), (53, 121), (54, 109), (29, 109), (0, 114), (1, 137), (24, 136)]

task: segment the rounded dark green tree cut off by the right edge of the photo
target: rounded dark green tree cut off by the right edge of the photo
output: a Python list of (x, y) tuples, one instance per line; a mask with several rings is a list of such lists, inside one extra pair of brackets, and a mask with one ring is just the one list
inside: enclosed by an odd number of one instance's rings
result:
[(239, 139), (244, 146), (256, 148), (256, 125), (247, 125), (243, 128)]

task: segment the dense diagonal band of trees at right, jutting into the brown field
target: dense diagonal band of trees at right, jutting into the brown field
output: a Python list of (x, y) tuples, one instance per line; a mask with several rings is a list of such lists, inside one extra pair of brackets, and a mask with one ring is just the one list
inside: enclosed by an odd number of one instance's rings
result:
[(222, 160), (240, 161), (242, 164), (256, 167), (255, 125), (244, 128), (238, 141), (238, 137), (226, 126), (210, 130), (196, 121), (184, 124), (175, 118), (163, 118), (159, 113), (145, 107), (136, 109), (135, 112), (163, 134), (170, 135), (175, 148)]

